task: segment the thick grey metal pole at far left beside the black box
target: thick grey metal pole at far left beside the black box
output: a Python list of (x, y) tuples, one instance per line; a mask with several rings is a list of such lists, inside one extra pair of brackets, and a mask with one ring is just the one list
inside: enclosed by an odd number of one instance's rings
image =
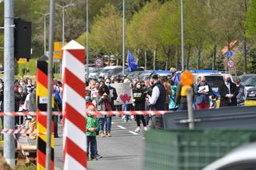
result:
[[(4, 2), (4, 112), (14, 112), (14, 1)], [(14, 129), (14, 117), (4, 117), (4, 128)], [(15, 141), (12, 134), (4, 134), (3, 155), (7, 164), (15, 166)]]

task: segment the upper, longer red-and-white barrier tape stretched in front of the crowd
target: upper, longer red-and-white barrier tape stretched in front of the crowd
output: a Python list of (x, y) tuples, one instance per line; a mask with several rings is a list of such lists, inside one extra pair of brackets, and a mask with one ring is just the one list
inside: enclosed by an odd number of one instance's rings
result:
[[(118, 116), (118, 115), (162, 115), (165, 113), (170, 113), (170, 111), (96, 111), (96, 112), (87, 112), (86, 115), (110, 115), (110, 116)], [(0, 117), (3, 116), (47, 116), (46, 112), (12, 112), (12, 113), (0, 113)], [(53, 112), (53, 116), (62, 115), (62, 112)]]

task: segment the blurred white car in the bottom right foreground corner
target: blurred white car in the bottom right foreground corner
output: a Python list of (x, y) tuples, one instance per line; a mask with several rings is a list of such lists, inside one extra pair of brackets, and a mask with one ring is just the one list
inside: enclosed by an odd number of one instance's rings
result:
[(209, 164), (203, 170), (255, 170), (256, 143), (246, 144)]

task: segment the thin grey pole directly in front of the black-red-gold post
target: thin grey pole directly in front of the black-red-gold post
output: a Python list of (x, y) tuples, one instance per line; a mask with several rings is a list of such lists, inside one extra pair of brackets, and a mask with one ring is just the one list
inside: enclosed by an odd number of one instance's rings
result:
[(50, 34), (49, 34), (49, 64), (48, 64), (48, 102), (47, 102), (47, 143), (46, 170), (50, 170), (51, 157), (51, 113), (52, 113), (52, 81), (53, 81), (53, 53), (54, 53), (54, 20), (55, 0), (50, 1)]

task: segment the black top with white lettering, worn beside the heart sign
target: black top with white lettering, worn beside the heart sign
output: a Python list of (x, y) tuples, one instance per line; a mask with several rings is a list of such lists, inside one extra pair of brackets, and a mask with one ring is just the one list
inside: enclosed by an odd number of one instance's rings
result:
[(141, 111), (145, 110), (145, 91), (144, 89), (134, 89), (133, 90), (133, 95), (134, 95), (134, 104), (135, 104), (135, 110)]

